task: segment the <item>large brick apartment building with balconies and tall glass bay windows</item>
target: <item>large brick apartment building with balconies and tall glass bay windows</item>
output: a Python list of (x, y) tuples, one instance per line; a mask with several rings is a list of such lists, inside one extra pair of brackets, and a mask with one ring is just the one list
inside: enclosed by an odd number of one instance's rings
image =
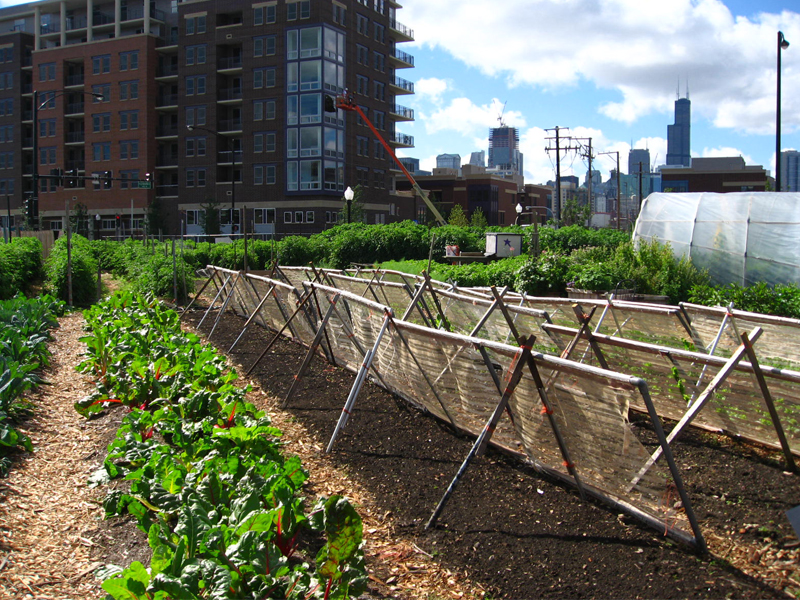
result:
[[(184, 223), (192, 234), (201, 207), (216, 201), (223, 233), (242, 218), (264, 235), (311, 233), (335, 222), (356, 185), (370, 223), (412, 218), (366, 123), (324, 110), (326, 95), (347, 90), (393, 148), (413, 146), (396, 129), (413, 120), (396, 102), (413, 94), (396, 72), (414, 64), (398, 48), (413, 39), (399, 7), (45, 0), (0, 9), (0, 197), (12, 223), (36, 195), (42, 228), (63, 228), (67, 206), (81, 203), (96, 234), (140, 231), (157, 206), (163, 233)], [(61, 171), (64, 181), (51, 177)]]

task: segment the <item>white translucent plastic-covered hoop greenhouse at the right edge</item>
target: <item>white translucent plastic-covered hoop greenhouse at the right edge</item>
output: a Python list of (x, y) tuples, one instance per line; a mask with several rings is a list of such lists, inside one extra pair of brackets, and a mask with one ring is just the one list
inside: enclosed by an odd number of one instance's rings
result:
[(634, 241), (669, 242), (715, 283), (800, 283), (800, 194), (651, 194)]

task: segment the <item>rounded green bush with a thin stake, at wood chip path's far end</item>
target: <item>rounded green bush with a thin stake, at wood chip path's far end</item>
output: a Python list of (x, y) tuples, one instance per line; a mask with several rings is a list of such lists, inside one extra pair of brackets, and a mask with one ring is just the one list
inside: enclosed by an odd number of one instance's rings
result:
[[(89, 306), (97, 299), (97, 259), (89, 240), (80, 235), (72, 237), (72, 303)], [(67, 236), (56, 240), (45, 269), (46, 288), (60, 300), (69, 301)]]

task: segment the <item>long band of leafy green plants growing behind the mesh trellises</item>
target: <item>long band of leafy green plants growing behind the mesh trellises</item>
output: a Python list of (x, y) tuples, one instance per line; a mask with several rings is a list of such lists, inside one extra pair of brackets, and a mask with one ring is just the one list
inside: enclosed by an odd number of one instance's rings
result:
[[(446, 245), (458, 245), (463, 252), (482, 252), (486, 232), (498, 229), (453, 225), (431, 229), (409, 221), (389, 225), (352, 223), (310, 237), (248, 240), (247, 267), (264, 270), (275, 262), (336, 269), (353, 263), (374, 264), (410, 273), (429, 270), (434, 279), (460, 286), (508, 286), (532, 295), (558, 296), (566, 296), (570, 287), (593, 291), (632, 289), (639, 294), (667, 296), (673, 304), (732, 302), (742, 310), (800, 318), (800, 289), (796, 285), (712, 286), (706, 273), (699, 272), (688, 260), (675, 259), (668, 246), (656, 242), (634, 246), (627, 233), (616, 230), (577, 225), (537, 230), (508, 227), (504, 231), (523, 236), (521, 256), (488, 264), (447, 264)], [(173, 245), (154, 240), (90, 242), (77, 235), (72, 239), (72, 299), (77, 305), (88, 306), (96, 299), (98, 266), (131, 282), (136, 292), (178, 302), (185, 302), (192, 292), (193, 273), (198, 268), (208, 264), (229, 269), (245, 266), (243, 240), (233, 244), (187, 241)], [(0, 244), (0, 249), (3, 246)], [(66, 264), (66, 240), (62, 238), (47, 261), (46, 289), (65, 300)], [(28, 267), (27, 272), (35, 272), (35, 266)], [(16, 280), (24, 281), (25, 277)]]

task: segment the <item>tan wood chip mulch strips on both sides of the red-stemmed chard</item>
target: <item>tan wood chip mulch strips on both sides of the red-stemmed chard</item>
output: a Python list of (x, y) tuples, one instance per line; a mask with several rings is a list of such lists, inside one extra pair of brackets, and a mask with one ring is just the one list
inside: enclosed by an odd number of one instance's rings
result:
[[(74, 403), (93, 387), (75, 371), (85, 348), (79, 341), (84, 320), (81, 313), (72, 313), (59, 322), (52, 332), (50, 366), (44, 370), (50, 385), (31, 396), (35, 412), (20, 426), (35, 450), (19, 455), (9, 477), (0, 479), (0, 599), (105, 597), (93, 575), (103, 563), (93, 559), (98, 542), (96, 536), (92, 539), (103, 519), (103, 491), (88, 488), (87, 479), (105, 456), (110, 424), (87, 421), (74, 410)], [(309, 504), (314, 502), (311, 496), (339, 493), (356, 506), (364, 522), (364, 550), (377, 597), (485, 596), (464, 574), (443, 568), (413, 540), (398, 536), (392, 515), (381, 514), (365, 490), (333, 467), (322, 454), (322, 442), (253, 385), (251, 401), (268, 410), (284, 432), (287, 452), (298, 455), (310, 472)]]

